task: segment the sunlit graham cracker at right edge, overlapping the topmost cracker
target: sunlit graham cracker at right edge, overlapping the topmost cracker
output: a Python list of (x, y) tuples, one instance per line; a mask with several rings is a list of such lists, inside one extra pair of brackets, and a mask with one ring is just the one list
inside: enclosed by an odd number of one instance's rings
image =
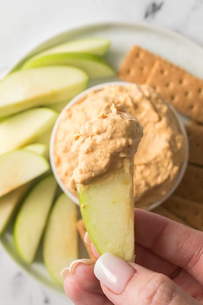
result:
[(157, 59), (145, 83), (178, 111), (203, 123), (203, 80), (164, 59)]

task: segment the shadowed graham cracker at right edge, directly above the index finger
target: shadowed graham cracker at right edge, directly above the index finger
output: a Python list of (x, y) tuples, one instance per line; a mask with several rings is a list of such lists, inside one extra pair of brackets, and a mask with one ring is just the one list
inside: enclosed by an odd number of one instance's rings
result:
[(173, 195), (163, 203), (163, 207), (193, 228), (203, 231), (203, 204)]

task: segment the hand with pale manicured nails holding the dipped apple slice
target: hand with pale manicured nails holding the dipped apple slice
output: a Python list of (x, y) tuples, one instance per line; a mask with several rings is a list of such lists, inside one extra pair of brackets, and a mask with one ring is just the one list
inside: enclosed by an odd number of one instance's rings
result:
[(74, 304), (203, 303), (203, 232), (136, 209), (135, 241), (136, 264), (105, 253), (95, 265), (76, 265), (64, 281)]

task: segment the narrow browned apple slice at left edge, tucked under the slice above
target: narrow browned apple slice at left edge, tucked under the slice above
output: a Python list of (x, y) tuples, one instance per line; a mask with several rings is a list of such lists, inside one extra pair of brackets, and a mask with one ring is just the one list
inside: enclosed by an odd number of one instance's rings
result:
[(26, 183), (0, 198), (0, 234), (4, 232), (9, 221), (12, 219), (28, 187), (29, 183)]

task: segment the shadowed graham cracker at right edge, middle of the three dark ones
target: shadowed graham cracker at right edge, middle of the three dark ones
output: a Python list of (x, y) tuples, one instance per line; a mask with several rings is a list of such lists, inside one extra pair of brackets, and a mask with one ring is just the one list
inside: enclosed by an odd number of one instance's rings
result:
[(203, 168), (189, 164), (174, 194), (203, 205)]

